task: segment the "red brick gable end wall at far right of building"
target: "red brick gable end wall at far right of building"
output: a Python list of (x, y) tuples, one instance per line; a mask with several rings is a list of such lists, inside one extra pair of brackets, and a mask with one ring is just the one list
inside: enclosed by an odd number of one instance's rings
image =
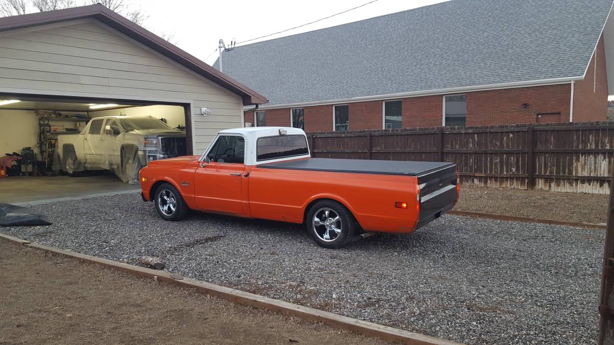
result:
[(605, 121), (608, 106), (608, 79), (605, 70), (604, 37), (597, 43), (597, 49), (584, 80), (573, 86), (573, 121)]

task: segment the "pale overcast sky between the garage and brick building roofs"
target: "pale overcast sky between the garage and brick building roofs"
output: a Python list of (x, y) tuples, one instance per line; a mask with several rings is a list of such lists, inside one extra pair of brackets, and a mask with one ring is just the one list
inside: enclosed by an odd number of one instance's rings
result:
[[(174, 33), (174, 39), (171, 40), (174, 44), (206, 63), (212, 64), (216, 61), (217, 53), (214, 55), (211, 53), (216, 50), (217, 41), (220, 38), (228, 43), (231, 40), (246, 41), (309, 23), (360, 6), (370, 0), (127, 1), (131, 3), (131, 7), (140, 6), (149, 14), (149, 18), (144, 23), (147, 29), (155, 33)], [(260, 41), (391, 14), (437, 2), (443, 2), (443, 0), (378, 0), (345, 14)]]

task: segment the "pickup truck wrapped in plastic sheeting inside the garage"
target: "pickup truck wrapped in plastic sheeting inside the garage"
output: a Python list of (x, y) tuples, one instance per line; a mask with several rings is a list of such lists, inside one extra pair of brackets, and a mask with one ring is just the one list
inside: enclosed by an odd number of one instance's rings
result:
[(54, 170), (74, 176), (109, 170), (123, 182), (139, 183), (148, 161), (187, 154), (185, 133), (150, 116), (93, 118), (78, 135), (58, 136)]

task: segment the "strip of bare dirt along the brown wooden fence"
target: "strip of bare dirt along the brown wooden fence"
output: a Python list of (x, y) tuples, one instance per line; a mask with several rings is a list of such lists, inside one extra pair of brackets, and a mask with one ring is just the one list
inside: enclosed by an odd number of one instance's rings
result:
[(607, 222), (608, 195), (461, 187), (459, 211), (566, 222)]

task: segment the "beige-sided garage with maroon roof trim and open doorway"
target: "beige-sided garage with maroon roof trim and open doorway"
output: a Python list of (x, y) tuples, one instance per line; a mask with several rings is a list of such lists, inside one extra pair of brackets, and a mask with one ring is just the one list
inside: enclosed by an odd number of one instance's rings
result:
[(100, 4), (0, 18), (0, 157), (32, 147), (40, 160), (41, 118), (60, 135), (103, 116), (161, 119), (200, 154), (217, 131), (243, 126), (243, 106), (264, 103)]

